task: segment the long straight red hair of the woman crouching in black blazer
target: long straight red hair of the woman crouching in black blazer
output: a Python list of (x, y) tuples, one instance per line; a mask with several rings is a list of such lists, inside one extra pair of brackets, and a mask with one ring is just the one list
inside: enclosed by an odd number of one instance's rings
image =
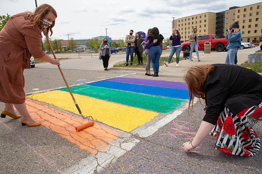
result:
[(193, 109), (193, 102), (194, 97), (205, 99), (205, 92), (204, 86), (208, 75), (212, 73), (214, 69), (213, 65), (195, 65), (192, 66), (184, 76), (184, 79), (188, 86), (188, 93), (189, 93), (189, 107), (192, 104)]

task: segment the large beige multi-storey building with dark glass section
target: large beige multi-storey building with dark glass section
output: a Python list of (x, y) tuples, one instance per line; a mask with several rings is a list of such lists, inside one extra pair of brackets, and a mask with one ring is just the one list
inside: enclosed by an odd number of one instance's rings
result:
[(193, 28), (197, 28), (198, 35), (216, 34), (224, 37), (226, 28), (238, 21), (242, 34), (242, 41), (259, 40), (262, 32), (261, 16), (262, 2), (243, 6), (231, 7), (223, 12), (206, 12), (187, 16), (172, 21), (172, 29), (177, 28), (181, 35), (181, 42), (187, 41)]

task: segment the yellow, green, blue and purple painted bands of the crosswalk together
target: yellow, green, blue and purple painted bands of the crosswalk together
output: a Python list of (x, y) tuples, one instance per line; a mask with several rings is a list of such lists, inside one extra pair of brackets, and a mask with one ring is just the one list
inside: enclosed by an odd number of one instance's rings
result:
[[(130, 132), (187, 102), (181, 82), (117, 77), (70, 88), (84, 116)], [(67, 88), (28, 96), (78, 114)]]

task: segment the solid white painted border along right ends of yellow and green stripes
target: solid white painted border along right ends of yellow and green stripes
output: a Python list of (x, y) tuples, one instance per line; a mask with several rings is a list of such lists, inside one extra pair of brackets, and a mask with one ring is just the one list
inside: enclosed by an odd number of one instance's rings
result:
[[(193, 105), (196, 103), (196, 100), (194, 100)], [(185, 109), (188, 108), (188, 102), (180, 106), (178, 110), (175, 110), (173, 113), (165, 116), (164, 118), (160, 119), (158, 122), (156, 122), (154, 125), (149, 126), (146, 129), (143, 129), (138, 132), (138, 135), (140, 137), (149, 137), (153, 133), (155, 133), (158, 129), (162, 128), (167, 123), (171, 122), (173, 119), (175, 119), (178, 115), (182, 114)]]

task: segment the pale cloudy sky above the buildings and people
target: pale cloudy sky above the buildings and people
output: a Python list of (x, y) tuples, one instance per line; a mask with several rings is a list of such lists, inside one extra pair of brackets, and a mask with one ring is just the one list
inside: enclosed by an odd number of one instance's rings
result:
[[(103, 0), (37, 0), (37, 5), (48, 3), (54, 7), (58, 17), (52, 38), (90, 39), (107, 35), (121, 39), (130, 31), (147, 32), (157, 27), (165, 37), (171, 34), (172, 17), (190, 16), (203, 12), (220, 12), (232, 6), (246, 6), (260, 0), (151, 0), (151, 1), (103, 1)], [(0, 0), (0, 15), (14, 15), (34, 11), (34, 0)]]

